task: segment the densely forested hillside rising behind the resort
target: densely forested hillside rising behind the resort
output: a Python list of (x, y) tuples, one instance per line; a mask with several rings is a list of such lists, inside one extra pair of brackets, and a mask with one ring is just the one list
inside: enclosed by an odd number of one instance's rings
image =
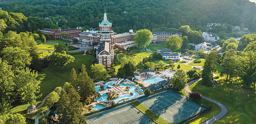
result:
[(1, 0), (0, 7), (7, 12), (21, 12), (26, 17), (60, 15), (55, 18), (63, 19), (59, 27), (70, 28), (97, 28), (106, 10), (113, 31), (117, 33), (130, 28), (157, 31), (160, 27), (183, 25), (206, 31), (207, 23), (227, 23), (256, 30), (256, 4), (247, 0)]

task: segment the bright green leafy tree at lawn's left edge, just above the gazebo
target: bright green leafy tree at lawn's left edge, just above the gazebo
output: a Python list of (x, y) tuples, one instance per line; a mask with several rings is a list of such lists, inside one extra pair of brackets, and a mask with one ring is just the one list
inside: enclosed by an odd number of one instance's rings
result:
[[(30, 105), (36, 105), (36, 99), (40, 98), (40, 81), (36, 80), (38, 73), (29, 68), (22, 69), (19, 74), (15, 76), (15, 84), (19, 88), (21, 100), (27, 101)], [(38, 96), (37, 96), (38, 95)]]

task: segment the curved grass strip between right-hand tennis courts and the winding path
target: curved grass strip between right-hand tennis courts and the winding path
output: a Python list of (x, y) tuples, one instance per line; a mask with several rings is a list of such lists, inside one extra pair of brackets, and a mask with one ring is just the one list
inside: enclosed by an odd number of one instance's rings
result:
[(212, 105), (212, 109), (205, 112), (204, 114), (198, 116), (198, 117), (195, 117), (194, 119), (186, 122), (185, 124), (200, 124), (208, 119), (210, 119), (211, 117), (213, 117), (214, 115), (217, 115), (220, 111), (221, 111), (221, 107), (218, 106), (217, 104), (213, 103), (213, 102), (210, 102), (206, 99), (200, 99), (200, 100), (195, 100), (197, 103), (199, 104), (208, 104), (208, 105)]

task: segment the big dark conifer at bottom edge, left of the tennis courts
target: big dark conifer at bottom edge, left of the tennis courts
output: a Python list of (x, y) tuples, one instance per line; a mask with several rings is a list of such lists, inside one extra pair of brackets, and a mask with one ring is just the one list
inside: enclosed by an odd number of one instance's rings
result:
[(71, 85), (61, 91), (57, 102), (60, 124), (85, 124), (85, 116), (82, 115), (83, 104), (79, 102), (80, 98)]

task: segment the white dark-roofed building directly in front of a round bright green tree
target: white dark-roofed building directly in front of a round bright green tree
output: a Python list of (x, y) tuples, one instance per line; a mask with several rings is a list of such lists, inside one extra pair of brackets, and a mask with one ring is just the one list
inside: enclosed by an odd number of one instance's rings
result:
[(157, 50), (157, 53), (161, 53), (163, 56), (163, 59), (167, 59), (167, 60), (179, 60), (179, 53), (174, 53), (169, 49), (166, 48), (162, 48), (160, 50)]

